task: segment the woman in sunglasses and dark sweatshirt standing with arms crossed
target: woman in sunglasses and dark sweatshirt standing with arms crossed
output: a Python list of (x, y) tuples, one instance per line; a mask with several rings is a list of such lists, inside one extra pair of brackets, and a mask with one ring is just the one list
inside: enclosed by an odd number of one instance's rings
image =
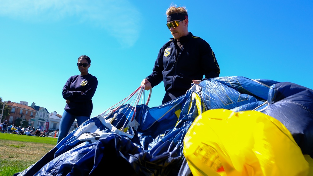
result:
[(94, 96), (98, 86), (97, 78), (88, 73), (90, 62), (88, 56), (80, 56), (77, 63), (80, 75), (69, 77), (63, 87), (62, 95), (66, 106), (60, 121), (57, 143), (67, 136), (75, 119), (78, 126), (90, 119), (92, 112), (91, 98)]

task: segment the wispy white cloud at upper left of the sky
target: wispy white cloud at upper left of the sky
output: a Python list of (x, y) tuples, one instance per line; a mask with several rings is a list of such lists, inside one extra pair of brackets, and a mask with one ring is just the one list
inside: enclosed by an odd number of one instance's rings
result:
[(0, 16), (31, 23), (77, 18), (77, 23), (104, 28), (122, 46), (139, 37), (140, 12), (127, 0), (0, 0)]

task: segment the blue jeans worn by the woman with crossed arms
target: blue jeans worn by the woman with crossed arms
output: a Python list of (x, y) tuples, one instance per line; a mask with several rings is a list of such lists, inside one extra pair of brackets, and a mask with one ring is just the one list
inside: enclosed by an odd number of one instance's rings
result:
[(72, 126), (73, 122), (77, 120), (77, 127), (83, 124), (86, 120), (90, 119), (90, 117), (86, 116), (74, 116), (66, 111), (63, 112), (60, 127), (59, 127), (59, 136), (58, 141), (59, 143), (64, 137), (66, 137), (69, 133), (69, 128)]

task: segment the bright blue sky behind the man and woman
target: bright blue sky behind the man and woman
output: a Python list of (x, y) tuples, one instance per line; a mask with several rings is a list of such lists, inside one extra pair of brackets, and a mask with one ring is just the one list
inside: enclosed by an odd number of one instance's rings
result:
[[(171, 4), (186, 6), (189, 32), (210, 44), (220, 76), (313, 89), (312, 1), (0, 0), (0, 96), (62, 115), (62, 88), (79, 74), (77, 58), (88, 55), (97, 116), (151, 73), (172, 37), (165, 25)], [(153, 88), (149, 106), (161, 105), (164, 93), (163, 83)]]

